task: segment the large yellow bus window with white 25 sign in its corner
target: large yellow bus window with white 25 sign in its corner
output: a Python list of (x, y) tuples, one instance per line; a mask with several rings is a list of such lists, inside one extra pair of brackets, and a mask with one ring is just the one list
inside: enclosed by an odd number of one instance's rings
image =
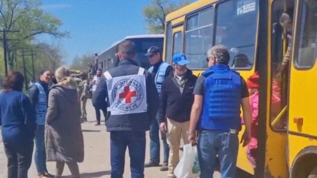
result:
[(257, 17), (258, 0), (230, 0), (217, 5), (215, 44), (228, 48), (231, 68), (252, 68)]

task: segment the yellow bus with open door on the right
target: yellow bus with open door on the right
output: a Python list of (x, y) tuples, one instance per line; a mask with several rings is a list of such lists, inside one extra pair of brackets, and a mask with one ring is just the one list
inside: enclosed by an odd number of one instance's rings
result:
[[(293, 18), (289, 40), (280, 25), (284, 12)], [(228, 48), (230, 68), (245, 79), (260, 74), (256, 172), (242, 145), (238, 168), (256, 177), (316, 178), (317, 0), (199, 0), (166, 16), (166, 62), (183, 52), (200, 75), (216, 44)], [(288, 46), (291, 59), (282, 73)]]

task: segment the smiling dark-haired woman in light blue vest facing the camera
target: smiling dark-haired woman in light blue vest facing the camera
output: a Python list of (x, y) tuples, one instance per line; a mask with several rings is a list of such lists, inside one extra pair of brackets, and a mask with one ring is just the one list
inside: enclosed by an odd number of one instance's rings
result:
[(29, 98), (35, 111), (37, 131), (35, 135), (34, 161), (38, 178), (53, 177), (46, 169), (46, 153), (44, 143), (44, 126), (47, 112), (47, 100), (49, 96), (49, 84), (52, 80), (52, 72), (43, 70), (40, 78), (29, 89)]

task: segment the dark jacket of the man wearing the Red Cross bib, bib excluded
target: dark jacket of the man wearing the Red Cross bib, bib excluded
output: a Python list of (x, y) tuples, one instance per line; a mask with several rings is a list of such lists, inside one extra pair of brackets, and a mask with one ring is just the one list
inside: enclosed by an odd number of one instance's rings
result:
[[(112, 77), (120, 77), (126, 75), (135, 75), (139, 71), (138, 64), (131, 59), (124, 59), (119, 62), (119, 66), (108, 72)], [(144, 73), (146, 78), (146, 102), (147, 112), (136, 114), (110, 115), (106, 121), (107, 131), (147, 131), (150, 129), (152, 118), (159, 109), (159, 94), (156, 91), (155, 84), (152, 81), (152, 76), (148, 71)], [(106, 77), (102, 75), (93, 95), (93, 105), (99, 108), (109, 106), (105, 98), (108, 99)]]

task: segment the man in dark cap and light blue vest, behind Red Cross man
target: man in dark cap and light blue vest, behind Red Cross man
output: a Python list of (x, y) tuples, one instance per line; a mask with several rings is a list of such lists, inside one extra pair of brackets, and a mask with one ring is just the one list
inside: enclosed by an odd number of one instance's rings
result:
[[(152, 74), (152, 79), (155, 83), (156, 89), (161, 94), (162, 83), (165, 78), (172, 71), (170, 64), (163, 62), (161, 49), (157, 46), (152, 46), (147, 50), (145, 56), (149, 58), (150, 64), (153, 65), (148, 70)], [(161, 171), (168, 170), (168, 157), (169, 157), (169, 147), (166, 142), (166, 135), (161, 134), (163, 140), (164, 148), (164, 162)], [(146, 163), (144, 167), (154, 167), (159, 166), (160, 162), (160, 141), (159, 141), (159, 113), (152, 119), (152, 124), (150, 127), (150, 162)]]

